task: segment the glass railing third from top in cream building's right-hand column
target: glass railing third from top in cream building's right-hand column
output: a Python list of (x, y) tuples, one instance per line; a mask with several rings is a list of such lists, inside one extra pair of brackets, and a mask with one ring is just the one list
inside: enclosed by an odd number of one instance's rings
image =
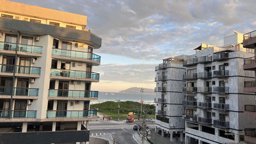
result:
[(49, 90), (49, 97), (97, 98), (99, 91)]

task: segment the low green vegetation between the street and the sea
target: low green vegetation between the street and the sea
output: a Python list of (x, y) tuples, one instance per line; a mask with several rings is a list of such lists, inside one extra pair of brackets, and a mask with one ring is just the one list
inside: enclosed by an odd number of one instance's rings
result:
[[(99, 109), (100, 114), (104, 114), (105, 117), (112, 117), (112, 120), (118, 120), (118, 102), (103, 102), (99, 104), (92, 104), (90, 108)], [(141, 110), (141, 103), (125, 101), (120, 102), (120, 120), (126, 120), (128, 112), (135, 113), (135, 119), (138, 119), (138, 113)], [(155, 105), (143, 104), (142, 110), (147, 112), (147, 118), (155, 118)]]

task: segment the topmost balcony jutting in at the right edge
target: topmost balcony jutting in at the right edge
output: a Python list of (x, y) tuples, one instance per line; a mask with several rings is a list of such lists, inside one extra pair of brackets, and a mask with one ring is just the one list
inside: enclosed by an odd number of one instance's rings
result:
[(255, 48), (256, 30), (243, 35), (243, 47)]

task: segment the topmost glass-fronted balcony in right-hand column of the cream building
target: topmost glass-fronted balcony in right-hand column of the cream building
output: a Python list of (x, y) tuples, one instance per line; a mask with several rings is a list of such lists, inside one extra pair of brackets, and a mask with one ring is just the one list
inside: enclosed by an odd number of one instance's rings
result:
[(87, 62), (90, 65), (100, 65), (100, 56), (94, 53), (71, 51), (67, 49), (52, 49), (52, 58), (60, 60), (71, 60), (71, 61), (81, 61)]

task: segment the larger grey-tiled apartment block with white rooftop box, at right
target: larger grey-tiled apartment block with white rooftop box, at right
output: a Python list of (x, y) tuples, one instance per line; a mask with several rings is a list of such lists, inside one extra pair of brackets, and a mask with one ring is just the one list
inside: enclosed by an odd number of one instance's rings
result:
[(243, 70), (243, 59), (254, 51), (244, 48), (243, 34), (224, 37), (224, 46), (202, 43), (184, 60), (186, 143), (238, 143), (243, 129), (255, 128), (255, 119), (245, 118), (245, 104), (255, 104), (255, 96), (244, 92), (245, 81), (254, 72)]

